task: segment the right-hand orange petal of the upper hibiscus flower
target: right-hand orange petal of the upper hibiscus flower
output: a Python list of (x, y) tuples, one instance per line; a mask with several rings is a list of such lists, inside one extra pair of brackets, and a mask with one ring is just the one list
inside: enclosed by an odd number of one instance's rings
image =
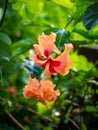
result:
[(72, 64), (69, 52), (72, 50), (72, 48), (72, 44), (65, 44), (65, 51), (62, 52), (61, 55), (55, 59), (57, 61), (60, 61), (59, 66), (54, 66), (54, 69), (57, 73), (60, 73), (62, 75), (66, 75), (69, 73)]

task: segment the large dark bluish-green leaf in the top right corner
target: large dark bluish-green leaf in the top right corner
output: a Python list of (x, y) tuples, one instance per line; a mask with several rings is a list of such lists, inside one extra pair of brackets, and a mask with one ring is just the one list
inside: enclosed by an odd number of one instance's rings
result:
[(83, 24), (91, 30), (98, 24), (98, 2), (90, 5), (83, 15)]

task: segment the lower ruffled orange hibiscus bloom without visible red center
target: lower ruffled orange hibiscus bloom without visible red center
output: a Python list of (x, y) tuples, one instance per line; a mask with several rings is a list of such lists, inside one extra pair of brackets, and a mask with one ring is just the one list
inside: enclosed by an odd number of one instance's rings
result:
[(59, 90), (54, 90), (55, 84), (49, 80), (41, 80), (40, 82), (36, 78), (29, 78), (28, 84), (23, 89), (24, 96), (26, 98), (37, 98), (44, 104), (46, 101), (55, 101), (57, 96), (60, 95)]

